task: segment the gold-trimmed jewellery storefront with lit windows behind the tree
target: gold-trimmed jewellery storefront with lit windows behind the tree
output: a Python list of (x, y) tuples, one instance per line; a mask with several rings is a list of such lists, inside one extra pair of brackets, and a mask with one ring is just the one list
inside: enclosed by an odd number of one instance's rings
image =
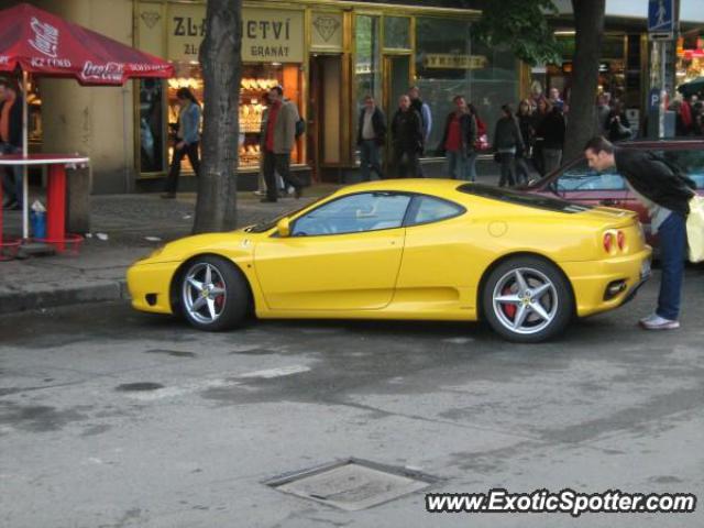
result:
[[(284, 88), (306, 121), (292, 163), (312, 180), (354, 180), (358, 112), (367, 94), (391, 119), (398, 97), (413, 85), (420, 88), (433, 117), (429, 156), (440, 142), (454, 95), (474, 102), (492, 128), (501, 105), (517, 100), (526, 70), (510, 52), (474, 42), (472, 22), (477, 15), (416, 6), (245, 2), (240, 136), (233, 139), (240, 153), (240, 187), (256, 186), (262, 98), (275, 85)], [(138, 188), (155, 185), (151, 182), (167, 169), (169, 131), (178, 111), (176, 90), (188, 87), (202, 101), (198, 50), (205, 18), (205, 2), (134, 2), (134, 45), (168, 59), (177, 73), (167, 82), (135, 86)], [(184, 165), (185, 172), (189, 168)]]

